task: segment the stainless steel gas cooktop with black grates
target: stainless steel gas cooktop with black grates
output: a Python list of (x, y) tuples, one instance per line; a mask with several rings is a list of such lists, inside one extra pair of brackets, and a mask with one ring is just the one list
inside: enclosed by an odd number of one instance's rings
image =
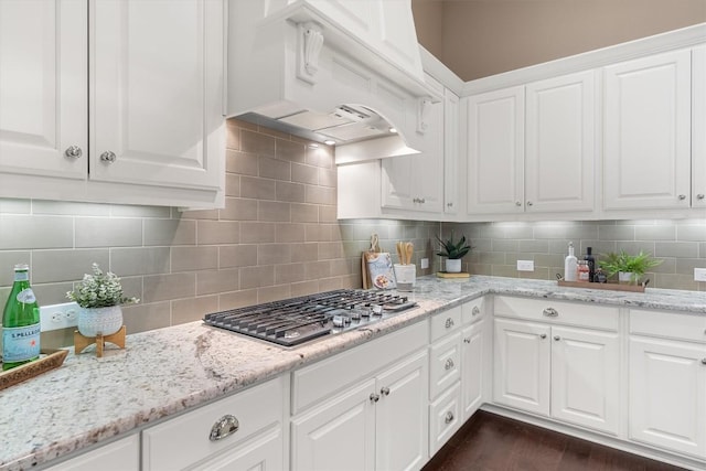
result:
[(384, 291), (340, 289), (213, 312), (208, 325), (295, 346), (322, 335), (359, 329), (417, 307), (407, 297)]

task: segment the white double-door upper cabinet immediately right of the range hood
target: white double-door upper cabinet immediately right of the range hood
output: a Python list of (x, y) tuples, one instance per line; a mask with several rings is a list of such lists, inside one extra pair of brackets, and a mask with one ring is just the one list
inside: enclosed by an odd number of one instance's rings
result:
[[(443, 94), (443, 85), (434, 77), (425, 74), (425, 81)], [(420, 153), (382, 161), (383, 208), (443, 212), (443, 101), (428, 106)]]

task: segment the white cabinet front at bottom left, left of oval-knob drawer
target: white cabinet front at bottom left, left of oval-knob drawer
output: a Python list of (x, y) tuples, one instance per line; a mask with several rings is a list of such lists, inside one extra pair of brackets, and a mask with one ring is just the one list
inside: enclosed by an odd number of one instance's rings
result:
[(45, 471), (138, 471), (140, 469), (140, 435), (133, 433), (87, 451), (76, 458), (45, 468)]

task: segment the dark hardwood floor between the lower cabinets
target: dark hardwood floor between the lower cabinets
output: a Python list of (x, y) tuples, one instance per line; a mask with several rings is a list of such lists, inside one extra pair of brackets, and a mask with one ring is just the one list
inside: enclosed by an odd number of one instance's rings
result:
[(590, 441), (479, 410), (422, 471), (676, 471)]

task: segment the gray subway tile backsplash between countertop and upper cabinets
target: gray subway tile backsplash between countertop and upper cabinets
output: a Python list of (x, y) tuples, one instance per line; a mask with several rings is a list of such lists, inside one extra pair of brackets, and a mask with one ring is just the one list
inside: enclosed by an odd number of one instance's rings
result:
[[(42, 304), (65, 302), (73, 282), (99, 263), (122, 278), (128, 333), (196, 321), (205, 312), (289, 296), (360, 287), (361, 251), (372, 233), (393, 253), (415, 243), (414, 260), (440, 267), (435, 235), (453, 229), (474, 246), (463, 260), (471, 274), (554, 279), (569, 240), (582, 255), (645, 249), (663, 260), (649, 275), (659, 288), (706, 290), (693, 269), (706, 267), (706, 220), (534, 223), (338, 221), (333, 151), (228, 120), (226, 207), (108, 205), (0, 199), (0, 299), (12, 266), (31, 264)], [(531, 259), (533, 272), (516, 261)], [(71, 335), (47, 335), (71, 344)], [(62, 340), (63, 339), (63, 340)]]

